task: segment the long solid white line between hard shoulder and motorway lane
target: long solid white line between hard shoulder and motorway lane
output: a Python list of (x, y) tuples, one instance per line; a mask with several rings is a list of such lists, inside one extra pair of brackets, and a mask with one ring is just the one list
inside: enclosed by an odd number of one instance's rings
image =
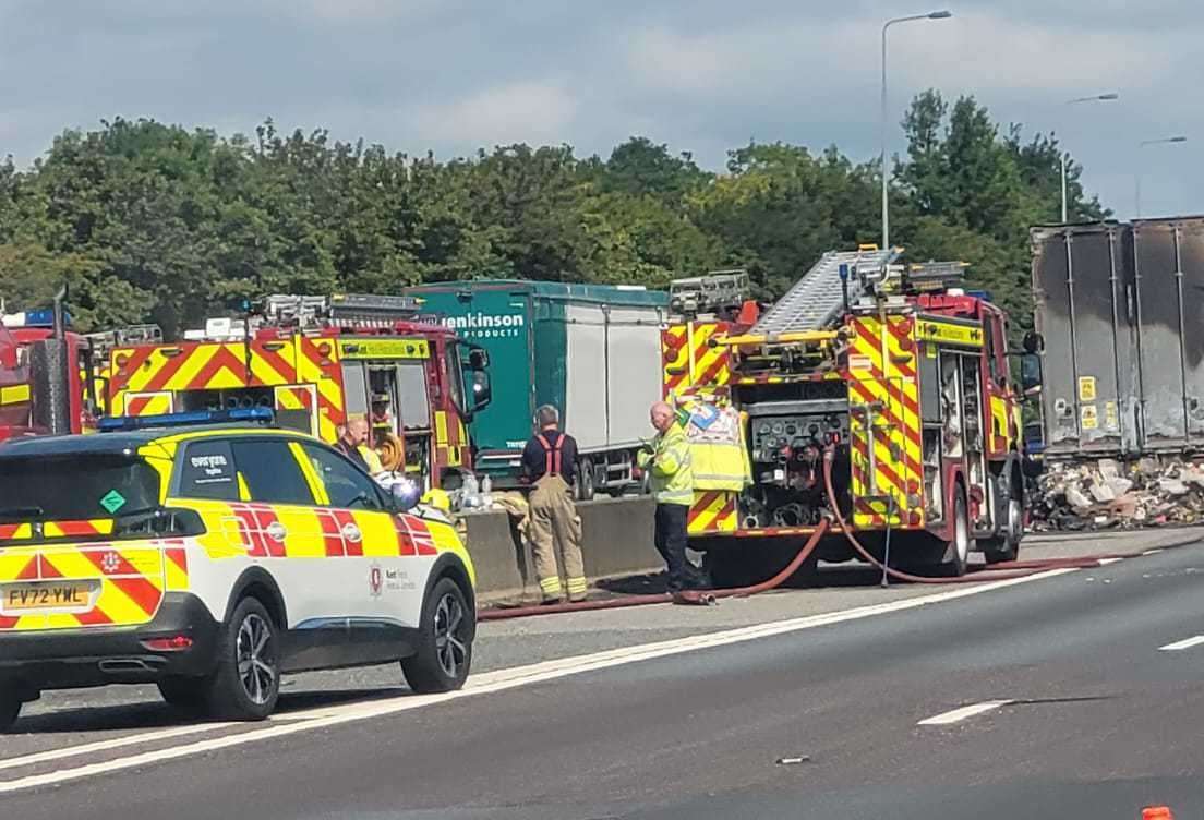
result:
[(892, 601), (890, 603), (857, 607), (856, 609), (845, 609), (843, 612), (833, 612), (822, 615), (795, 618), (771, 624), (760, 624), (756, 626), (745, 626), (722, 632), (713, 632), (710, 635), (692, 636), (675, 641), (661, 641), (638, 647), (625, 647), (609, 651), (595, 653), (592, 655), (580, 655), (577, 657), (544, 661), (542, 663), (531, 663), (529, 666), (520, 666), (509, 669), (498, 669), (496, 672), (486, 672), (484, 674), (474, 676), (468, 680), (467, 685), (462, 690), (443, 695), (401, 695), (388, 700), (350, 703), (344, 707), (320, 707), (305, 712), (294, 712), (289, 713), (288, 718), (290, 721), (288, 724), (270, 725), (266, 728), (243, 732), (241, 735), (197, 741), (181, 747), (144, 751), (128, 757), (116, 757), (113, 760), (78, 766), (76, 768), (59, 769), (57, 772), (47, 772), (45, 774), (33, 774), (16, 780), (4, 780), (0, 781), (0, 795), (23, 789), (35, 789), (37, 786), (78, 780), (108, 772), (149, 766), (152, 763), (161, 763), (169, 760), (206, 754), (218, 749), (226, 749), (258, 741), (268, 741), (317, 728), (326, 728), (329, 726), (337, 726), (340, 724), (348, 724), (356, 720), (380, 718), (401, 712), (409, 712), (412, 709), (421, 709), (424, 707), (447, 703), (462, 697), (501, 692), (509, 689), (518, 689), (531, 684), (556, 680), (559, 678), (566, 678), (596, 669), (606, 669), (656, 657), (667, 657), (669, 655), (697, 651), (700, 649), (710, 649), (714, 647), (724, 647), (745, 641), (755, 641), (757, 638), (766, 638), (774, 635), (798, 632), (801, 630), (814, 629), (818, 626), (842, 624), (845, 621), (860, 620), (862, 618), (870, 618), (873, 615), (915, 609), (932, 603), (954, 601), (957, 598), (969, 597), (972, 595), (981, 595), (982, 592), (1027, 584), (1044, 578), (1055, 578), (1070, 572), (1078, 572), (1078, 570), (1051, 570), (1049, 572), (1026, 576), (1023, 578), (1010, 578), (1007, 580), (967, 585), (956, 590), (914, 598), (904, 598), (902, 601)]

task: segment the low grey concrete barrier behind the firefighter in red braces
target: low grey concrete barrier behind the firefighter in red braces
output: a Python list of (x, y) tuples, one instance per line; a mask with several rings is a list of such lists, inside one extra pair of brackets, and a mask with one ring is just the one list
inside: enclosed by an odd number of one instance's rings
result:
[[(654, 507), (651, 499), (601, 499), (577, 505), (590, 583), (663, 568), (653, 545)], [(509, 515), (501, 511), (470, 513), (465, 524), (482, 602), (537, 601), (539, 579), (531, 548), (521, 544)]]

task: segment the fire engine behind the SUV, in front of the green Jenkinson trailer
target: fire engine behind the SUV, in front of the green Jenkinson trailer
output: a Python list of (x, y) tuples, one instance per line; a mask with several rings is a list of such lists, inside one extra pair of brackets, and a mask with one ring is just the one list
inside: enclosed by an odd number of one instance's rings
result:
[(489, 358), (409, 296), (275, 295), (181, 341), (116, 343), (112, 415), (270, 407), (326, 442), (361, 415), (386, 470), (424, 488), (471, 468), (467, 424), (490, 400)]

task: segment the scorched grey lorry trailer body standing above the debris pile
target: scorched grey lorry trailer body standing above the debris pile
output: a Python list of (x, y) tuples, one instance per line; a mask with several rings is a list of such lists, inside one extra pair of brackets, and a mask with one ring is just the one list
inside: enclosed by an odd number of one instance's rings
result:
[(1204, 217), (1031, 240), (1045, 456), (1204, 450)]

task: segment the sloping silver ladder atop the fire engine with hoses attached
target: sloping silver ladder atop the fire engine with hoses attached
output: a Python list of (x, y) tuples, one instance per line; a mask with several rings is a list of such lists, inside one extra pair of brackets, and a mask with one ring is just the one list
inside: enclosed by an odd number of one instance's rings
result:
[(828, 250), (820, 256), (795, 285), (766, 311), (749, 331), (750, 336), (771, 336), (824, 330), (836, 321), (844, 309), (840, 289), (840, 266), (848, 265), (849, 301), (864, 293), (857, 267), (878, 270), (899, 256), (899, 249), (889, 250)]

